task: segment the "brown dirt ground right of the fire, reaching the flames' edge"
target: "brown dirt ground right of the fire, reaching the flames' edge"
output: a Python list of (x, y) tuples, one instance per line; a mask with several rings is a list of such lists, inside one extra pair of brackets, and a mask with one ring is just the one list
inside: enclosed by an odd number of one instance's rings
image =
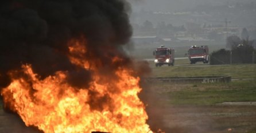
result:
[[(153, 91), (152, 91), (153, 90)], [(157, 90), (159, 92), (160, 90)], [(156, 89), (142, 97), (147, 104), (148, 123), (153, 130), (173, 133), (245, 133), (256, 132), (254, 102), (216, 105), (170, 105), (169, 98), (157, 95)]]

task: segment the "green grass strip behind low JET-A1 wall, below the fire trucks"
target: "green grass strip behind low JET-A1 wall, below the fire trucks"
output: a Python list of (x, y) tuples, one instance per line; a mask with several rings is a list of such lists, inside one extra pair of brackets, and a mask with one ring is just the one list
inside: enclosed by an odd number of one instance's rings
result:
[(152, 77), (231, 76), (233, 79), (256, 78), (256, 64), (212, 66), (205, 64), (186, 65), (185, 63), (186, 60), (177, 60), (174, 67), (154, 67), (153, 62), (151, 62)]

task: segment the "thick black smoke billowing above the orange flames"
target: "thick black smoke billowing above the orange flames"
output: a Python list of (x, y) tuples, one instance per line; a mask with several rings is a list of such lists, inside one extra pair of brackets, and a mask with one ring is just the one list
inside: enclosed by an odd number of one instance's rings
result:
[[(87, 85), (90, 71), (68, 58), (68, 41), (73, 38), (86, 38), (87, 52), (82, 56), (96, 60), (95, 67), (103, 73), (130, 64), (121, 47), (132, 34), (129, 10), (122, 0), (1, 1), (0, 88), (10, 83), (7, 73), (22, 64), (31, 64), (41, 79), (67, 71), (69, 84)], [(123, 60), (111, 64), (115, 56)]]

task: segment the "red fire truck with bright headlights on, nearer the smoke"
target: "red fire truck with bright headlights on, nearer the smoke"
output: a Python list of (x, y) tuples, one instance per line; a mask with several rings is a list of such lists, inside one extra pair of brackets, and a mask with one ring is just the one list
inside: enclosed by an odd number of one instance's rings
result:
[(153, 55), (155, 57), (154, 64), (156, 64), (156, 67), (161, 67), (164, 64), (168, 66), (174, 65), (173, 48), (166, 48), (164, 45), (161, 45), (160, 48), (154, 50)]

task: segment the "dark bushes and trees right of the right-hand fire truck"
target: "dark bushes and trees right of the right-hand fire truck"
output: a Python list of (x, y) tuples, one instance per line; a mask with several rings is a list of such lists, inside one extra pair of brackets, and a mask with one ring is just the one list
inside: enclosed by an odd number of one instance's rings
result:
[(210, 55), (210, 64), (249, 64), (256, 63), (254, 49), (255, 40), (249, 40), (249, 34), (244, 28), (241, 38), (238, 36), (229, 36), (226, 40), (226, 48), (212, 52)]

